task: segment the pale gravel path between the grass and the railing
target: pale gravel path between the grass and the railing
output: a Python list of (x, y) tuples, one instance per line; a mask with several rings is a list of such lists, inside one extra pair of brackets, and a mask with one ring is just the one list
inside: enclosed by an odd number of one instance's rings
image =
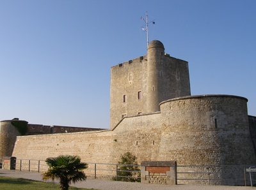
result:
[[(41, 173), (37, 172), (20, 172), (15, 170), (3, 170), (0, 169), (0, 176), (24, 178), (42, 181)], [(237, 186), (168, 186), (168, 185), (156, 185), (156, 184), (141, 184), (136, 182), (116, 182), (113, 180), (104, 179), (90, 179), (88, 178), (84, 182), (77, 182), (72, 184), (75, 187), (92, 188), (92, 189), (102, 189), (102, 190), (120, 190), (120, 189), (132, 189), (132, 190), (243, 190), (243, 189), (256, 189), (255, 187), (237, 187)]]

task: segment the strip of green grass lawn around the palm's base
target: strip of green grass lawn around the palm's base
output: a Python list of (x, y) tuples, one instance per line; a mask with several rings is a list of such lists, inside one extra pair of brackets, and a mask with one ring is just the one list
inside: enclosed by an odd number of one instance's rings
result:
[[(30, 179), (13, 178), (13, 177), (0, 177), (0, 189), (1, 190), (44, 190), (44, 189), (58, 189), (60, 190), (59, 184), (52, 184), (51, 182), (39, 182)], [(77, 187), (69, 187), (73, 189), (83, 189)], [(84, 190), (84, 189), (83, 189)]]

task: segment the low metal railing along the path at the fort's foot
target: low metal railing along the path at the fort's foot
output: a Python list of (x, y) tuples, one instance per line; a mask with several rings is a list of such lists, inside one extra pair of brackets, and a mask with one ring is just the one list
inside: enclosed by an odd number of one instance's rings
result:
[[(109, 164), (109, 163), (87, 163), (88, 168), (84, 170), (86, 175), (95, 179), (105, 177), (118, 180), (127, 176), (119, 175), (120, 172), (131, 172), (134, 179), (140, 179), (140, 170), (124, 171), (120, 170), (125, 164)], [(129, 165), (126, 166), (138, 166)], [(188, 166), (177, 165), (177, 181), (178, 184), (205, 184), (205, 185), (241, 185), (250, 183), (249, 173), (246, 173), (246, 165), (208, 165), (208, 166)], [(17, 159), (16, 170), (29, 172), (46, 172), (48, 166), (44, 160), (36, 159)], [(256, 172), (252, 174), (253, 179), (256, 179)]]

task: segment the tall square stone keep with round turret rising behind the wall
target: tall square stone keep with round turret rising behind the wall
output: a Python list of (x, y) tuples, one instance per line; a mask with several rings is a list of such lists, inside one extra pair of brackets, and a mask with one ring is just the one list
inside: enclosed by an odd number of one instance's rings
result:
[(147, 55), (111, 68), (110, 128), (123, 117), (159, 111), (166, 99), (190, 96), (188, 62), (164, 53), (161, 41), (149, 43)]

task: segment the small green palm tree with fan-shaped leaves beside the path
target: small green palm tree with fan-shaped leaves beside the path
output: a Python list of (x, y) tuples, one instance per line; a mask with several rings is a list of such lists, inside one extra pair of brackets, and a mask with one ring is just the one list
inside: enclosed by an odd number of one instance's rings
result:
[(43, 179), (60, 179), (61, 190), (68, 190), (71, 182), (86, 180), (86, 175), (82, 170), (88, 168), (88, 164), (81, 163), (81, 157), (79, 156), (48, 157), (45, 163), (49, 166), (49, 169), (42, 174)]

